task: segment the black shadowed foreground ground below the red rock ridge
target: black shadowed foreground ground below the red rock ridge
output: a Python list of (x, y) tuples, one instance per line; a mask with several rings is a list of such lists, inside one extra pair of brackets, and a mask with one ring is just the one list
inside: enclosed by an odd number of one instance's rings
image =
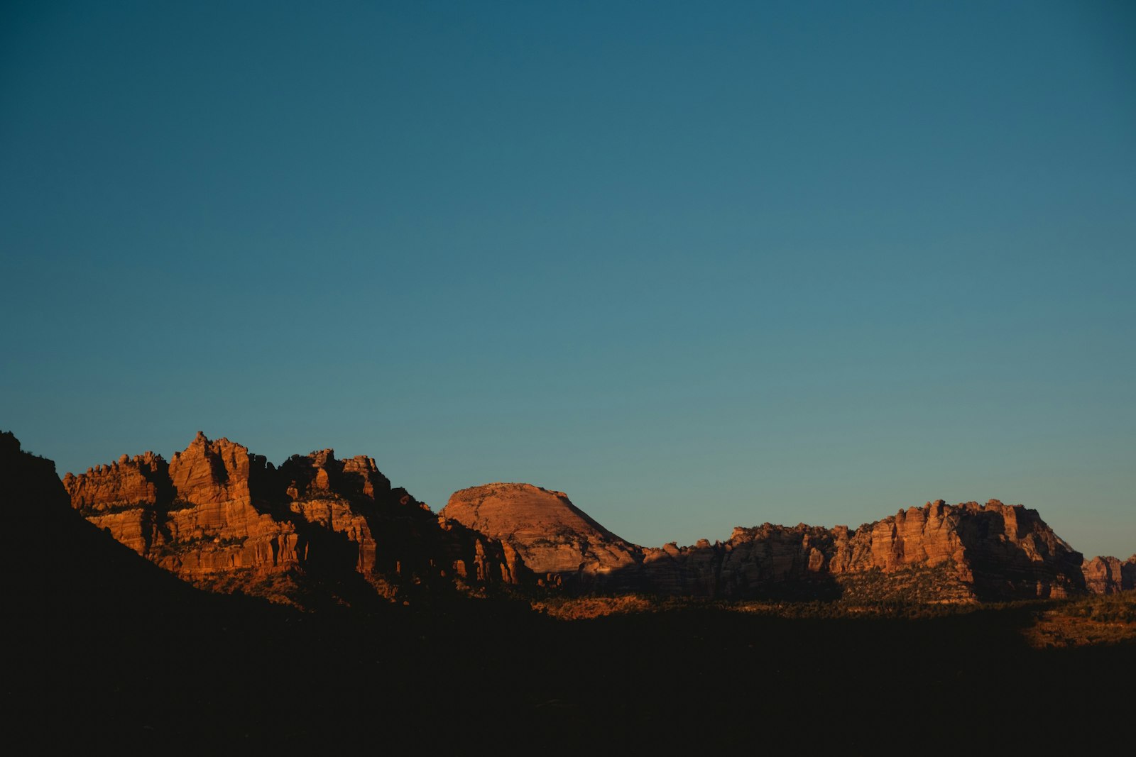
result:
[[(20, 471), (12, 502), (36, 474)], [(1059, 603), (301, 613), (193, 589), (66, 502), (9, 510), (6, 524), (9, 754), (1086, 754), (1120, 748), (1136, 707), (1131, 641), (1027, 644)]]

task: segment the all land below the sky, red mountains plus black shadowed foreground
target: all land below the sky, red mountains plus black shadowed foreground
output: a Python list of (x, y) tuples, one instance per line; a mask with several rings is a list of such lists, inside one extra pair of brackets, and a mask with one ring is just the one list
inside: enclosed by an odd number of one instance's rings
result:
[[(465, 489), (434, 514), (369, 459), (275, 466), (201, 435), (60, 480), (2, 434), (0, 481), (20, 752), (1072, 754), (1114, 749), (1130, 710), (1133, 595), (1116, 592), (1133, 561), (1081, 562), (1020, 506), (645, 548), (538, 487)], [(1044, 592), (1085, 597), (986, 603)], [(679, 603), (531, 609), (644, 594)], [(896, 600), (934, 604), (859, 612)], [(1027, 641), (1070, 628), (1112, 636)]]

